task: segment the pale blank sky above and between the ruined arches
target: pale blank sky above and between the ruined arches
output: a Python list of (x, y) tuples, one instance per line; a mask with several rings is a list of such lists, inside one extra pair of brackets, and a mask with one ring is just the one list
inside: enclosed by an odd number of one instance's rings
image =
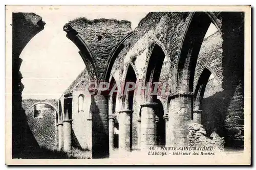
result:
[[(139, 21), (149, 12), (70, 12), (36, 10), (34, 12), (46, 22), (45, 29), (35, 35), (25, 46), (20, 58), (23, 59), (22, 72), (23, 99), (58, 99), (84, 69), (84, 63), (78, 54), (78, 48), (66, 37), (63, 26), (77, 17), (115, 18), (129, 20), (134, 30)], [(216, 32), (211, 25), (207, 35)]]

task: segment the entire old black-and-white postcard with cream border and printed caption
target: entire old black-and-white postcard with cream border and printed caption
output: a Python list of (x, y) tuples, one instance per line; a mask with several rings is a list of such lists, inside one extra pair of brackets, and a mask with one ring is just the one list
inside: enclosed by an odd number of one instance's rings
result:
[(250, 6), (6, 6), (6, 164), (250, 165)]

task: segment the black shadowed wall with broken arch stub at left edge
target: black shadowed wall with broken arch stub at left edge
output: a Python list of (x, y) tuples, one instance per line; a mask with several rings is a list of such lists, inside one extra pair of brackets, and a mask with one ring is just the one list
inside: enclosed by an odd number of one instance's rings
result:
[[(22, 108), (21, 82), (22, 74), (19, 71), (22, 59), (19, 58), (24, 47), (33, 36), (44, 29), (45, 22), (34, 13), (12, 14), (12, 157), (18, 158), (19, 154), (26, 151), (26, 147), (38, 147), (35, 138), (26, 122), (26, 114)], [(32, 150), (32, 151), (33, 151)]]

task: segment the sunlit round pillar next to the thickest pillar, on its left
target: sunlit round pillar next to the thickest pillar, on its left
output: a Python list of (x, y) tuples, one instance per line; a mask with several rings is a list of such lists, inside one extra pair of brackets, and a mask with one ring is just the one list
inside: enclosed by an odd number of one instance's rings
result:
[(155, 106), (157, 103), (141, 104), (141, 150), (148, 150), (156, 144)]

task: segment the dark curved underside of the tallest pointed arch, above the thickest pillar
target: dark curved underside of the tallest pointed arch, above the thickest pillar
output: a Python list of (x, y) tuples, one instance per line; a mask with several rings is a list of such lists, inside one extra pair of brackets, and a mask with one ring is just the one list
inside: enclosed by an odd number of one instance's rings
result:
[(191, 14), (178, 53), (177, 91), (193, 91), (197, 58), (210, 23), (214, 23), (222, 34), (214, 13), (194, 12)]

